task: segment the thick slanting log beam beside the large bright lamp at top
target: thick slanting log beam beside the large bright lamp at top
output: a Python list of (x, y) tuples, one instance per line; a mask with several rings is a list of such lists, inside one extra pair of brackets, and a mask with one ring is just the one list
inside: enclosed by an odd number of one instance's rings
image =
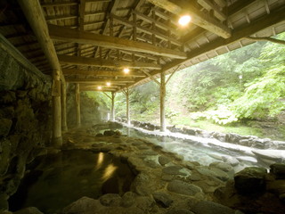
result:
[(199, 12), (198, 9), (189, 4), (188, 5), (177, 4), (181, 2), (179, 0), (176, 0), (175, 3), (171, 2), (170, 0), (148, 0), (148, 1), (178, 16), (181, 16), (185, 13), (190, 14), (191, 22), (193, 24), (198, 25), (203, 29), (208, 29), (208, 31), (211, 31), (220, 37), (229, 38), (232, 36), (231, 29), (227, 28), (220, 22), (210, 18), (206, 14)]

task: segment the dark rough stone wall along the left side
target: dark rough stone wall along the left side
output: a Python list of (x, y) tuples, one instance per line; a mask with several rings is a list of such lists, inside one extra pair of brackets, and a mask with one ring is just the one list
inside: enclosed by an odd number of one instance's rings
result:
[(0, 37), (0, 211), (50, 142), (51, 78)]

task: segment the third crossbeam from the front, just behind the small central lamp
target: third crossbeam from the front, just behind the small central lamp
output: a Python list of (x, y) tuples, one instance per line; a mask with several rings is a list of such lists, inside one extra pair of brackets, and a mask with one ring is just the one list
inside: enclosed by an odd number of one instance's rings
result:
[(145, 75), (135, 70), (125, 74), (122, 70), (77, 70), (77, 69), (62, 69), (63, 75), (85, 75), (95, 77), (138, 77), (144, 78)]

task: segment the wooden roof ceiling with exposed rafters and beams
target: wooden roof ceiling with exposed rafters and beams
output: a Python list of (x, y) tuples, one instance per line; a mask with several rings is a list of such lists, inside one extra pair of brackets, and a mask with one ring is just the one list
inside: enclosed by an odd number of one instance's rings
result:
[[(285, 0), (40, 0), (67, 82), (120, 91), (285, 31)], [(191, 23), (180, 27), (182, 14)], [(35, 18), (37, 19), (37, 18)], [(52, 68), (16, 0), (0, 33), (47, 75)], [(251, 38), (248, 38), (251, 37)], [(124, 68), (130, 72), (125, 74)], [(106, 83), (110, 82), (110, 86)]]

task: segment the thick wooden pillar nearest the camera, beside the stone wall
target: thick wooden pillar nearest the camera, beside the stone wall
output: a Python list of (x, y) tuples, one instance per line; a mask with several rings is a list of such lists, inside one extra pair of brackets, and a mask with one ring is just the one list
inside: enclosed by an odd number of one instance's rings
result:
[(53, 146), (61, 147), (61, 80), (60, 70), (53, 70)]

